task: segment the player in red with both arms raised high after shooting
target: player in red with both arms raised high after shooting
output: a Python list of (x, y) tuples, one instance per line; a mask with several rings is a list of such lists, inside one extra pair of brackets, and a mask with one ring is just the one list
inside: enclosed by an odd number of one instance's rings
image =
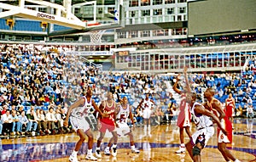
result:
[(187, 68), (184, 68), (184, 76), (185, 76), (185, 81), (186, 81), (186, 87), (182, 90), (177, 89), (177, 83), (180, 80), (179, 76), (177, 75), (176, 77), (176, 82), (173, 85), (173, 90), (177, 92), (178, 94), (181, 95), (181, 102), (180, 102), (180, 113), (177, 116), (177, 126), (179, 127), (179, 138), (180, 138), (180, 147), (179, 149), (175, 152), (177, 154), (185, 153), (185, 144), (184, 144), (184, 135), (183, 135), (183, 130), (185, 129), (189, 138), (191, 138), (192, 133), (190, 131), (190, 120), (191, 120), (191, 113), (189, 111), (189, 103), (186, 102), (186, 93), (191, 92), (191, 88), (189, 86), (189, 79), (187, 75)]

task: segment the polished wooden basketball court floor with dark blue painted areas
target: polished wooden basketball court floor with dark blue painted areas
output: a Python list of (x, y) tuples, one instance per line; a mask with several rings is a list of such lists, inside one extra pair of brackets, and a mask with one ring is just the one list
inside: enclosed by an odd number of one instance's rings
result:
[[(241, 161), (256, 161), (256, 119), (236, 119), (234, 120), (233, 143), (230, 148), (232, 154)], [(195, 131), (192, 129), (192, 131)], [(94, 150), (96, 148), (95, 131)], [(148, 134), (151, 134), (149, 136)], [(119, 137), (117, 157), (106, 156), (102, 154), (102, 159), (98, 161), (109, 162), (190, 162), (189, 154), (175, 154), (178, 149), (179, 134), (175, 124), (163, 126), (151, 126), (151, 131), (146, 132), (142, 127), (136, 127), (134, 130), (136, 147), (140, 149), (140, 154), (131, 154), (128, 137)], [(185, 136), (187, 142), (189, 138)], [(35, 162), (35, 161), (56, 161), (66, 162), (68, 156), (72, 153), (75, 142), (79, 137), (75, 133), (49, 135), (44, 137), (15, 137), (1, 139), (0, 143), (0, 161), (17, 162)], [(108, 137), (104, 138), (102, 150), (106, 147)], [(218, 152), (217, 137), (214, 136), (207, 143), (201, 157), (202, 161), (224, 162), (225, 160)], [(88, 161), (84, 159), (87, 143), (79, 151), (79, 161)]]

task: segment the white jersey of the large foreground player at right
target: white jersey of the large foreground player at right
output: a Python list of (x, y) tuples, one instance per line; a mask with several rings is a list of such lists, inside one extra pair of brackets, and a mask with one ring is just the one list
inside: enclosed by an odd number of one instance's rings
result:
[(195, 102), (193, 104), (192, 109), (191, 109), (191, 115), (194, 119), (195, 126), (196, 126), (197, 130), (206, 128), (208, 126), (212, 126), (212, 120), (209, 116), (207, 116), (207, 115), (196, 115), (195, 114), (195, 105), (201, 105), (201, 103)]

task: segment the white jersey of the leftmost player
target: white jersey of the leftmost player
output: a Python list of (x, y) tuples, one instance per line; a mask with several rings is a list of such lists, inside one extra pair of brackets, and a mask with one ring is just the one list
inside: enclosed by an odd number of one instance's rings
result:
[(72, 117), (82, 119), (88, 114), (88, 112), (90, 112), (90, 109), (92, 108), (91, 98), (90, 98), (90, 102), (87, 101), (87, 98), (85, 97), (83, 98), (84, 98), (84, 105), (82, 107), (73, 109), (71, 113)]

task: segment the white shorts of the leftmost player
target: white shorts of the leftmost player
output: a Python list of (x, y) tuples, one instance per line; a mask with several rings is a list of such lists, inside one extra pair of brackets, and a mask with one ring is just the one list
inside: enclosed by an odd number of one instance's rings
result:
[(88, 131), (90, 129), (89, 123), (85, 120), (85, 118), (76, 118), (73, 116), (70, 116), (70, 123), (71, 126), (73, 127), (74, 131), (78, 131), (79, 129)]

